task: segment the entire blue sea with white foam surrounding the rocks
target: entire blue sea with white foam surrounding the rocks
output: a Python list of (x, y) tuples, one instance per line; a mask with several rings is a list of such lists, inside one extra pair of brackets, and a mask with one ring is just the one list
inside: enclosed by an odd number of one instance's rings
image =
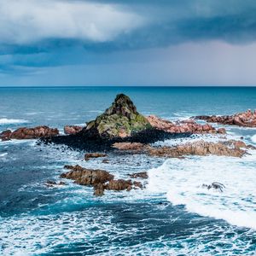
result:
[[(22, 126), (84, 125), (118, 93), (139, 112), (187, 119), (256, 108), (256, 88), (61, 87), (0, 88), (0, 131)], [(226, 127), (228, 138), (256, 146), (256, 129)], [(217, 136), (168, 140), (216, 141)], [(109, 155), (38, 146), (36, 140), (0, 142), (0, 255), (256, 255), (256, 154), (241, 159)], [(101, 168), (116, 177), (148, 172), (146, 189), (93, 196), (91, 188), (59, 181), (66, 164)], [(224, 193), (202, 183), (224, 183)]]

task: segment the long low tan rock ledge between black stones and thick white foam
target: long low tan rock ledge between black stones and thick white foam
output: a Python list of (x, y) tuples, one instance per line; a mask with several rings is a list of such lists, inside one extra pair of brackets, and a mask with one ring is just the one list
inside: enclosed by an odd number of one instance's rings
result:
[(225, 156), (234, 156), (241, 157), (244, 154), (247, 154), (246, 149), (256, 149), (252, 145), (246, 145), (241, 141), (224, 141), (218, 143), (205, 142), (203, 140), (193, 142), (193, 143), (184, 143), (181, 145), (173, 147), (152, 147), (149, 145), (143, 145), (141, 148), (136, 148), (132, 150), (131, 148), (124, 149), (122, 143), (118, 144), (118, 147), (115, 148), (119, 150), (128, 150), (134, 154), (149, 154), (151, 156), (158, 157), (183, 157), (186, 155), (225, 155)]

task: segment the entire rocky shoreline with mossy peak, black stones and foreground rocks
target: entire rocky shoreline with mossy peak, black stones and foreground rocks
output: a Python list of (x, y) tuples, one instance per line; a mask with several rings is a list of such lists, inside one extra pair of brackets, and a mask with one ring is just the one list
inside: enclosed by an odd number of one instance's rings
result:
[[(223, 125), (256, 126), (256, 113), (247, 111), (234, 116), (197, 116), (194, 119), (204, 119), (207, 122)], [(256, 149), (242, 141), (223, 140), (218, 143), (195, 141), (181, 143), (174, 146), (154, 146), (153, 143), (166, 139), (185, 138), (193, 134), (225, 135), (224, 128), (215, 128), (209, 124), (198, 124), (194, 119), (171, 122), (160, 119), (155, 115), (143, 116), (137, 112), (137, 108), (128, 96), (120, 94), (116, 96), (112, 105), (95, 120), (86, 126), (66, 125), (60, 135), (57, 129), (48, 126), (34, 128), (20, 128), (16, 131), (3, 131), (0, 138), (10, 139), (34, 139), (39, 138), (38, 144), (67, 145), (72, 149), (86, 152), (84, 160), (105, 158), (102, 162), (108, 163), (109, 152), (113, 154), (146, 154), (150, 157), (160, 158), (184, 158), (189, 155), (206, 156), (214, 154), (218, 156), (242, 157), (248, 154), (248, 149)], [(129, 179), (115, 179), (105, 170), (92, 170), (82, 166), (65, 166), (68, 172), (62, 173), (61, 178), (72, 179), (75, 183), (94, 188), (94, 195), (104, 195), (105, 190), (143, 189), (143, 183), (134, 180), (136, 178), (148, 178), (147, 172), (133, 173)], [(48, 187), (64, 185), (48, 181)], [(209, 188), (216, 184), (208, 185)], [(211, 187), (212, 186), (212, 187)]]

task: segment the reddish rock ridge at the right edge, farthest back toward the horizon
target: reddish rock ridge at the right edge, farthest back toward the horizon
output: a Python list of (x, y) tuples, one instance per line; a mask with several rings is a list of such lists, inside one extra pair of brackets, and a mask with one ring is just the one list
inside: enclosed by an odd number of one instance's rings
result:
[(194, 119), (206, 120), (209, 123), (218, 123), (222, 125), (238, 125), (244, 127), (256, 127), (256, 110), (252, 112), (250, 109), (244, 113), (236, 113), (234, 115), (200, 115)]

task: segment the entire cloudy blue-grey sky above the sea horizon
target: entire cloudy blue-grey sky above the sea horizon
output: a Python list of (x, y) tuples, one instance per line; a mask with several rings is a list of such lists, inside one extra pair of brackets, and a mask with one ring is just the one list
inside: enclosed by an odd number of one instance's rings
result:
[(0, 0), (0, 86), (256, 85), (255, 0)]

